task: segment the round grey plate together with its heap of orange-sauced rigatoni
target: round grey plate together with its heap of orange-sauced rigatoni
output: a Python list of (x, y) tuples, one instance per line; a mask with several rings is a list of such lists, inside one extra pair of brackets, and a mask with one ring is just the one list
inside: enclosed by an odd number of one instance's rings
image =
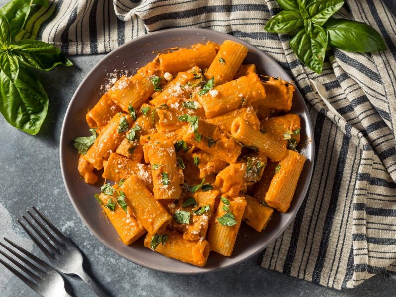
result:
[(182, 274), (274, 242), (308, 191), (313, 157), (287, 72), (245, 41), (195, 28), (107, 54), (76, 90), (60, 140), (66, 190), (93, 234), (136, 264)]

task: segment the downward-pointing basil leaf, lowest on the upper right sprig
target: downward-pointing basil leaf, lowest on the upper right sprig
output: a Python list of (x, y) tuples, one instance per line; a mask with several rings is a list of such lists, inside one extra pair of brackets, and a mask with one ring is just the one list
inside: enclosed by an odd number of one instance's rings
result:
[(300, 29), (290, 40), (290, 47), (297, 57), (316, 73), (322, 73), (326, 54), (328, 33), (322, 27), (313, 24), (310, 34)]

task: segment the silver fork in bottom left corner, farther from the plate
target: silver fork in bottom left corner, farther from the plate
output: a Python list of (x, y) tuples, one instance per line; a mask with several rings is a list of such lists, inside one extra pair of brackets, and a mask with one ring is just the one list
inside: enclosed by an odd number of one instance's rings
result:
[[(72, 297), (69, 295), (64, 287), (63, 278), (59, 272), (49, 266), (46, 262), (42, 261), (38, 257), (34, 256), (26, 249), (18, 246), (17, 244), (13, 243), (7, 238), (4, 240), (13, 246), (14, 248), (18, 249), (20, 252), (25, 254), (28, 258), (33, 261), (29, 261), (29, 259), (23, 257), (11, 247), (6, 246), (3, 243), (0, 243), (2, 247), (7, 249), (10, 253), (12, 253), (15, 257), (17, 257), (21, 262), (23, 262), (26, 266), (22, 265), (20, 262), (16, 261), (14, 258), (9, 256), (8, 254), (4, 253), (0, 250), (0, 253), (7, 258), (10, 262), (12, 262), (15, 266), (17, 266), (20, 270), (26, 273), (29, 277), (27, 278), (25, 275), (20, 273), (14, 267), (0, 259), (0, 263), (3, 264), (9, 271), (15, 274), (21, 281), (23, 281), (26, 285), (36, 291), (38, 294), (44, 297)], [(34, 264), (36, 263), (36, 264)]]

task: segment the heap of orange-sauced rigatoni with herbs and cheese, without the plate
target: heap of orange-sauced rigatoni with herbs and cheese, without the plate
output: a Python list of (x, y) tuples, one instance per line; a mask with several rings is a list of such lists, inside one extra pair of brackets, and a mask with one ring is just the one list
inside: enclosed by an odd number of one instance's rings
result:
[(78, 171), (105, 179), (95, 198), (124, 244), (147, 233), (145, 247), (204, 266), (233, 255), (242, 221), (265, 232), (288, 210), (305, 162), (294, 86), (247, 53), (231, 40), (161, 53), (87, 113)]

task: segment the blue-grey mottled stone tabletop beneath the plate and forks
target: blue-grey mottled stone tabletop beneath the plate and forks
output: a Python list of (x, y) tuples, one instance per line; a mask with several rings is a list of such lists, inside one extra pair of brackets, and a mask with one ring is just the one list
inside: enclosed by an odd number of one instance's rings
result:
[[(0, 0), (0, 6), (6, 1)], [(396, 13), (394, 0), (386, 0)], [(37, 136), (12, 128), (0, 116), (0, 239), (16, 241), (42, 257), (16, 219), (38, 206), (86, 256), (87, 270), (109, 296), (390, 296), (393, 280), (373, 277), (355, 289), (337, 291), (259, 266), (261, 254), (233, 268), (198, 276), (165, 274), (142, 268), (104, 247), (71, 205), (59, 168), (59, 137), (67, 105), (88, 71), (103, 57), (72, 57), (74, 67), (38, 73), (49, 95), (47, 120)], [(81, 98), (84, 100), (84, 98)], [(78, 278), (66, 276), (69, 293), (93, 297)], [(39, 296), (0, 265), (0, 297)]]

